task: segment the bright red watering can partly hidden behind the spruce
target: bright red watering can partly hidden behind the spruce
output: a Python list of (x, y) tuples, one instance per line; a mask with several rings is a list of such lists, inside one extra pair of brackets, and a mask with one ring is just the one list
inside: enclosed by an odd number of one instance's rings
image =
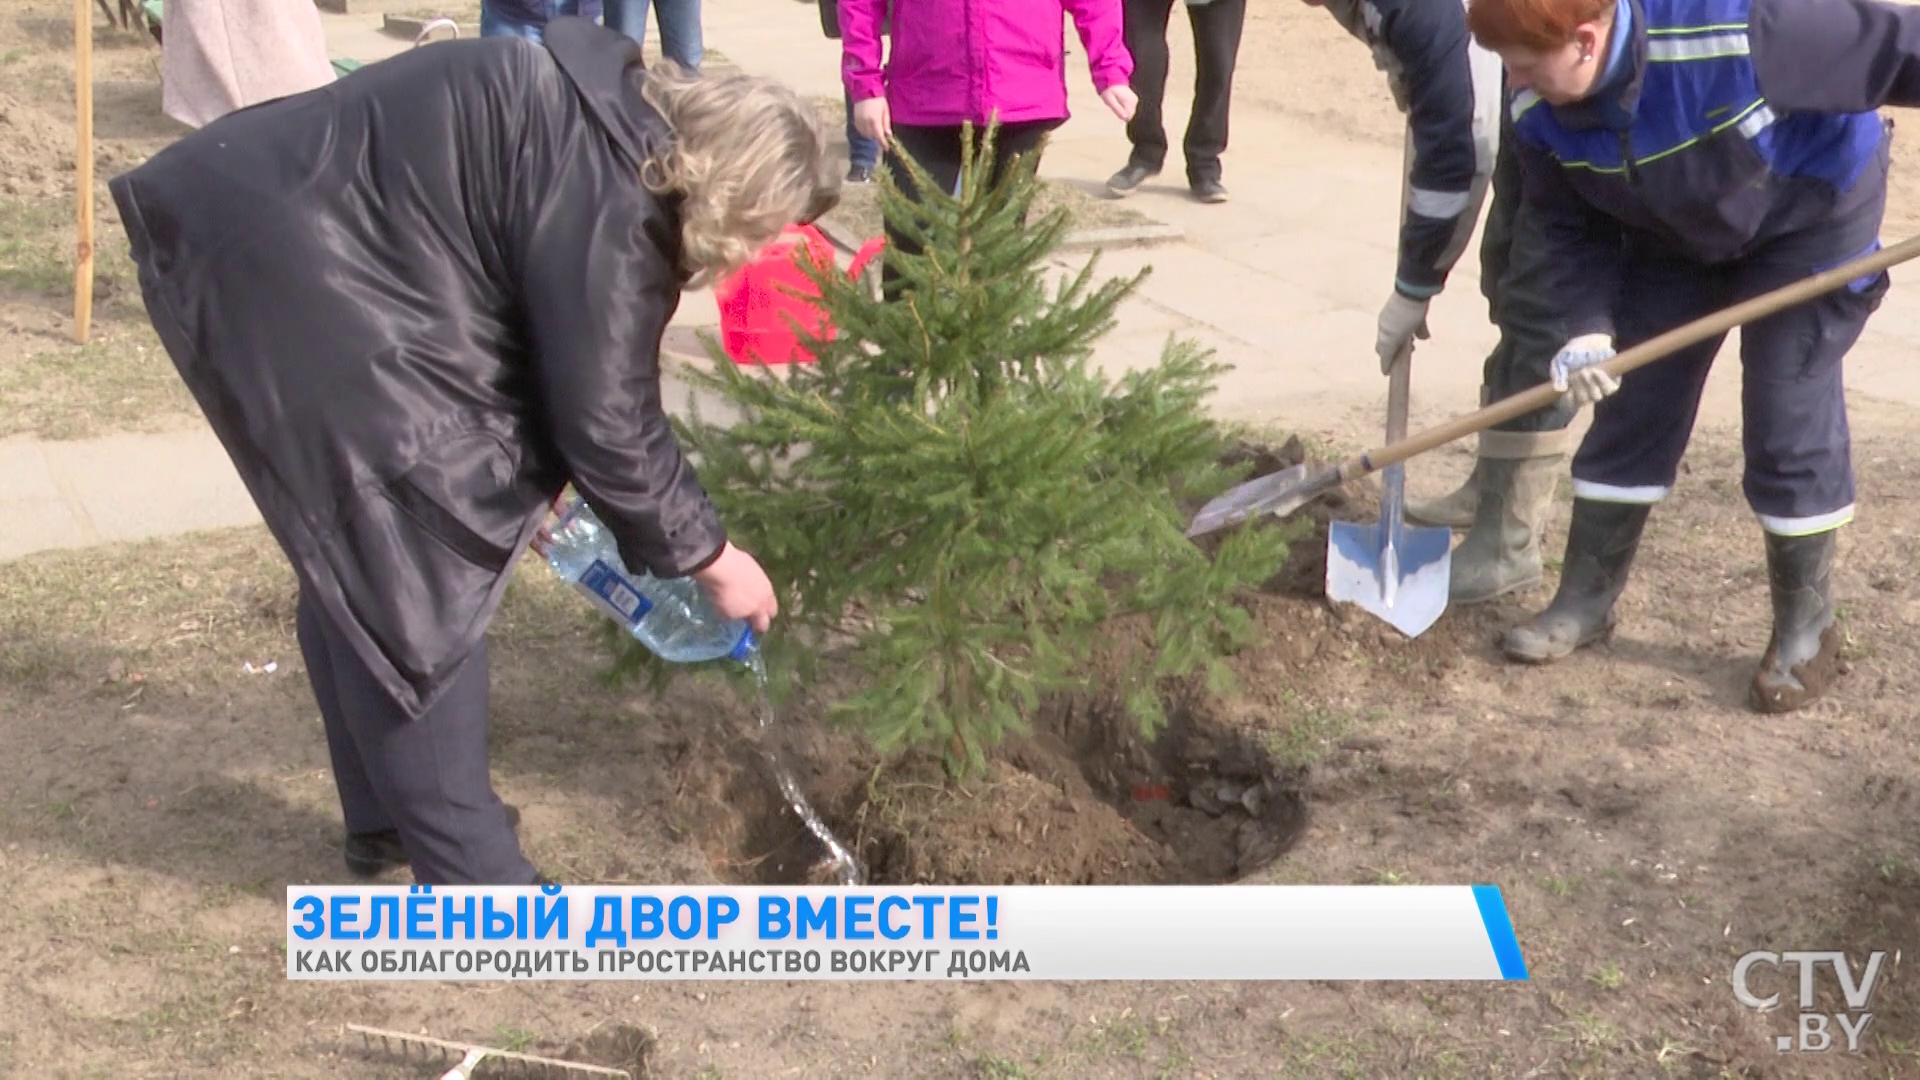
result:
[[(866, 263), (885, 246), (876, 236), (860, 246), (849, 277), (860, 277)], [(732, 277), (714, 286), (720, 306), (720, 346), (733, 363), (812, 363), (814, 356), (801, 344), (789, 319), (816, 338), (833, 336), (828, 313), (820, 307), (820, 290), (806, 277), (806, 258), (833, 265), (833, 242), (812, 225), (789, 225), (780, 238)]]

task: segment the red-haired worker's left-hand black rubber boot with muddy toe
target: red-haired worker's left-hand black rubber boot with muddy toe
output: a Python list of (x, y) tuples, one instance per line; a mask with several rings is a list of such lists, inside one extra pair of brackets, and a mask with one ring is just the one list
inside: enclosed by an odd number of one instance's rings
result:
[(1546, 611), (1507, 632), (1507, 657), (1553, 663), (1613, 630), (1613, 603), (1626, 588), (1626, 571), (1653, 507), (1572, 500), (1567, 565)]

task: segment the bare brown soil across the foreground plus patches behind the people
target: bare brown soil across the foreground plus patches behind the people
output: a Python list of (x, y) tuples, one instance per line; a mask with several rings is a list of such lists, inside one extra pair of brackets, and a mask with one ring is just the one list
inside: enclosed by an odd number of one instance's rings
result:
[[(71, 202), (67, 17), (48, 0), (0, 15), (0, 206), (42, 223)], [(102, 146), (131, 163), (173, 136), (156, 54), (109, 29), (96, 48)], [(1398, 140), (1365, 52), (1319, 12), (1258, 6), (1240, 71), (1236, 108)], [(125, 392), (54, 382), (90, 356), (63, 338), (67, 242), (0, 231), (0, 423), (190, 421), (152, 346), (113, 354)], [(125, 269), (104, 256), (102, 273), (123, 282), (102, 332), (138, 342)], [(142, 407), (115, 413), (123, 396)], [(1515, 986), (288, 982), (284, 886), (342, 876), (340, 819), (273, 542), (0, 565), (0, 1074), (428, 1074), (355, 1053), (359, 1022), (699, 1080), (1920, 1076), (1903, 967), (1920, 945), (1914, 415), (1860, 402), (1853, 421), (1849, 671), (1805, 713), (1745, 709), (1768, 632), (1761, 538), (1738, 432), (1703, 429), (1619, 632), (1549, 669), (1505, 663), (1498, 640), (1551, 571), (1411, 642), (1329, 605), (1325, 527), (1371, 519), (1361, 486), (1309, 507), (1250, 600), (1265, 642), (1236, 688), (1169, 686), (1160, 742), (1108, 701), (1054, 701), (989, 776), (950, 784), (828, 728), (824, 690), (778, 726), (877, 880), (1492, 882), (1532, 972)], [(1563, 538), (1565, 500), (1546, 550)], [(760, 774), (749, 705), (708, 680), (649, 696), (591, 678), (593, 619), (526, 567), (493, 628), (495, 782), (536, 863), (570, 882), (801, 880), (818, 851)], [(1129, 634), (1104, 663), (1127, 663)], [(1747, 949), (1885, 949), (1862, 1053), (1776, 1053), (1791, 1009), (1751, 1013), (1728, 988)]]

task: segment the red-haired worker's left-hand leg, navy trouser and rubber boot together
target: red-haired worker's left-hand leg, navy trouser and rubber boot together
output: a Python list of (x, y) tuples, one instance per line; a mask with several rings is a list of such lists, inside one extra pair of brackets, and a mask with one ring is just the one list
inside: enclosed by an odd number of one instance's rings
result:
[[(1620, 346), (1630, 348), (1697, 319), (1724, 300), (1705, 267), (1636, 258), (1620, 298)], [(1699, 394), (1724, 336), (1630, 371), (1620, 390), (1594, 407), (1572, 461), (1574, 503), (1561, 582), (1546, 611), (1507, 634), (1511, 659), (1549, 663), (1601, 640), (1640, 546), (1647, 511), (1667, 498), (1680, 471)]]

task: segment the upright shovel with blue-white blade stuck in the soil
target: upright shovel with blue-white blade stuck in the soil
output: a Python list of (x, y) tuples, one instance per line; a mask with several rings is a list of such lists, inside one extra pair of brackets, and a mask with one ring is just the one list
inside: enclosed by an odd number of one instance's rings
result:
[[(1400, 352), (1386, 382), (1386, 442), (1407, 438), (1407, 382), (1413, 346)], [(1386, 465), (1380, 477), (1379, 525), (1336, 521), (1327, 530), (1327, 600), (1357, 603), (1409, 638), (1421, 636), (1446, 611), (1453, 530), (1409, 527), (1404, 521), (1405, 465)]]

